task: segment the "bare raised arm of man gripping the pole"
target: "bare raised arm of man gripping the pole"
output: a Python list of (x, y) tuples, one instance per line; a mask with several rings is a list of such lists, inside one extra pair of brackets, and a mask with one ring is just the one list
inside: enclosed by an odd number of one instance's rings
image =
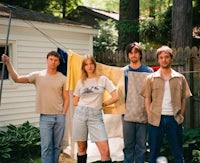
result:
[(16, 70), (14, 69), (13, 65), (10, 62), (10, 59), (7, 55), (3, 54), (1, 57), (2, 61), (6, 64), (8, 72), (11, 76), (11, 78), (16, 83), (29, 83), (27, 76), (20, 76)]

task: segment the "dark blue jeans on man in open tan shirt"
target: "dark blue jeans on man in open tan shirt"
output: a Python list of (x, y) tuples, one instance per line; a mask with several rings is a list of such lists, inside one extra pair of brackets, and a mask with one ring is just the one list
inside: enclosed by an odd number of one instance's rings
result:
[(174, 116), (162, 115), (160, 125), (157, 127), (149, 124), (148, 132), (150, 147), (149, 163), (156, 163), (165, 134), (174, 157), (174, 163), (184, 163), (182, 151), (183, 129), (182, 125), (177, 124)]

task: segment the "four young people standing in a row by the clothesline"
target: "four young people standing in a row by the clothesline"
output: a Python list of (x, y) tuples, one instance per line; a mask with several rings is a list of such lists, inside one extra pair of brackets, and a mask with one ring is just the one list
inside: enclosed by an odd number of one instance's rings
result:
[[(185, 77), (171, 68), (173, 51), (168, 46), (160, 47), (157, 52), (159, 70), (142, 64), (142, 48), (137, 42), (126, 47), (130, 63), (123, 67), (125, 83), (125, 103), (131, 94), (129, 72), (148, 73), (144, 79), (141, 92), (145, 107), (132, 107), (122, 115), (124, 163), (144, 163), (146, 158), (146, 141), (150, 148), (149, 163), (156, 163), (162, 139), (166, 135), (175, 163), (183, 163), (182, 123), (186, 99), (191, 92)], [(42, 71), (19, 75), (13, 68), (9, 57), (2, 55), (10, 76), (17, 83), (31, 83), (36, 87), (36, 112), (40, 114), (40, 136), (42, 163), (58, 163), (61, 142), (64, 135), (66, 113), (69, 106), (69, 91), (66, 90), (66, 76), (57, 71), (60, 56), (51, 51), (47, 54), (47, 68)], [(102, 108), (118, 101), (117, 88), (112, 81), (96, 71), (93, 56), (85, 55), (81, 65), (81, 77), (73, 92), (75, 106), (72, 121), (72, 136), (77, 142), (78, 163), (87, 162), (87, 139), (90, 134), (101, 155), (101, 162), (111, 163), (108, 136), (106, 133)], [(103, 101), (107, 90), (110, 98)], [(134, 105), (134, 104), (133, 104)], [(141, 109), (143, 109), (141, 111)], [(127, 118), (128, 114), (142, 113), (143, 118)], [(148, 125), (147, 125), (148, 124)]]

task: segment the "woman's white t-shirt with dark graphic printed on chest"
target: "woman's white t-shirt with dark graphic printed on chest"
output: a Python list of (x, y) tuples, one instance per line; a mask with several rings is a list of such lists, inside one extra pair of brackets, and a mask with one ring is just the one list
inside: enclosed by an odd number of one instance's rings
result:
[(78, 96), (78, 106), (90, 107), (96, 110), (102, 109), (104, 90), (109, 93), (116, 88), (112, 81), (106, 76), (99, 76), (98, 78), (86, 79), (84, 83), (78, 80), (73, 95)]

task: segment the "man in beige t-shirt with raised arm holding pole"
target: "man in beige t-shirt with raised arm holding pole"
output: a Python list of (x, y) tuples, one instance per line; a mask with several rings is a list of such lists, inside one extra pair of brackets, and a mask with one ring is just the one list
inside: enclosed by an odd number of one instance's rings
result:
[(47, 54), (47, 69), (20, 76), (9, 57), (2, 55), (8, 72), (16, 83), (30, 83), (36, 87), (36, 113), (40, 114), (42, 163), (58, 163), (65, 129), (65, 115), (69, 106), (66, 77), (57, 71), (60, 55)]

